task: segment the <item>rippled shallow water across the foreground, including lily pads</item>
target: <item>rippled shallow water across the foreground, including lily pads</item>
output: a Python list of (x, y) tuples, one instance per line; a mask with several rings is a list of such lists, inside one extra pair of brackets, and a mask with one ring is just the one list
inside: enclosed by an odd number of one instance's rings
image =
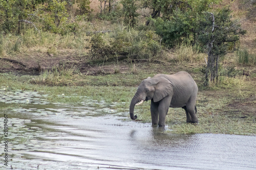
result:
[[(31, 91), (0, 90), (14, 169), (255, 169), (256, 137), (174, 135), (131, 121), (103, 101), (50, 104)], [(95, 107), (96, 106), (96, 107)], [(0, 119), (3, 129), (4, 117)], [(4, 148), (3, 141), (2, 147)], [(0, 169), (4, 165), (1, 149)]]

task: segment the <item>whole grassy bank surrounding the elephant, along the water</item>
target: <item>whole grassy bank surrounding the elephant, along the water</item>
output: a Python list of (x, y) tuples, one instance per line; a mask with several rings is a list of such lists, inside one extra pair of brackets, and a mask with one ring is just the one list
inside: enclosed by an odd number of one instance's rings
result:
[[(120, 63), (120, 68), (125, 63)], [(166, 117), (169, 126), (167, 133), (193, 134), (193, 133), (220, 133), (220, 134), (256, 134), (256, 92), (255, 79), (244, 77), (222, 77), (220, 84), (212, 88), (202, 86), (203, 72), (200, 65), (180, 66), (148, 63), (129, 66), (120, 69), (118, 74), (99, 74), (88, 76), (77, 72), (72, 74), (50, 75), (53, 72), (45, 72), (39, 76), (0, 74), (0, 87), (6, 90), (36, 90), (46, 93), (49, 102), (60, 102), (77, 105), (89, 96), (93, 100), (104, 100), (106, 103), (120, 103), (113, 109), (119, 109), (129, 116), (129, 106), (133, 95), (140, 82), (148, 76), (154, 76), (157, 72), (168, 74), (179, 70), (188, 71), (197, 84), (199, 93), (197, 99), (199, 124), (197, 126), (186, 124), (185, 112), (181, 108), (170, 108)], [(46, 76), (48, 74), (48, 76)], [(253, 74), (252, 74), (253, 75)], [(48, 77), (51, 77), (48, 78)], [(62, 95), (64, 94), (64, 95)], [(78, 94), (78, 95), (74, 95)], [(69, 98), (64, 96), (70, 96)], [(81, 97), (82, 96), (82, 97)], [(13, 106), (15, 107), (15, 106)], [(151, 122), (150, 102), (144, 102), (142, 106), (135, 107), (135, 114), (141, 123)], [(132, 121), (132, 120), (131, 120)]]

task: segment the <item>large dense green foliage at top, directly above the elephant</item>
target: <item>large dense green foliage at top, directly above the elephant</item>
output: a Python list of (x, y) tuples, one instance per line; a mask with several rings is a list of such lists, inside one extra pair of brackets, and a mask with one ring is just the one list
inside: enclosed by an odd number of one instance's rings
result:
[(170, 47), (182, 40), (196, 43), (195, 36), (198, 29), (197, 21), (204, 16), (204, 11), (210, 9), (216, 1), (157, 1), (165, 2), (168, 8), (161, 6), (162, 18), (153, 19), (156, 33), (163, 38), (163, 42)]

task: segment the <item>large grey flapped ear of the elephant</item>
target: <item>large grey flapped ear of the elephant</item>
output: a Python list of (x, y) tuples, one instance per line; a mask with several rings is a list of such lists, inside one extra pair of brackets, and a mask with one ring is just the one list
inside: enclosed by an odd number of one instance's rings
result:
[(153, 100), (154, 102), (159, 102), (163, 98), (165, 98), (167, 95), (172, 94), (173, 92), (173, 84), (163, 78), (156, 78), (156, 87), (155, 87), (155, 92), (154, 92), (154, 97)]

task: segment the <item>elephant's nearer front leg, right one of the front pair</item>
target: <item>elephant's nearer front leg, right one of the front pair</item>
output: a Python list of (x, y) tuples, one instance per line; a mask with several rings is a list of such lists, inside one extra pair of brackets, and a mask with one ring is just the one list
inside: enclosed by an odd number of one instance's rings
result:
[(166, 117), (166, 114), (168, 112), (171, 100), (172, 100), (171, 96), (166, 96), (159, 103), (159, 107), (158, 107), (158, 111), (159, 111), (159, 123), (158, 123), (158, 125), (159, 125), (159, 127), (165, 126), (165, 117)]

